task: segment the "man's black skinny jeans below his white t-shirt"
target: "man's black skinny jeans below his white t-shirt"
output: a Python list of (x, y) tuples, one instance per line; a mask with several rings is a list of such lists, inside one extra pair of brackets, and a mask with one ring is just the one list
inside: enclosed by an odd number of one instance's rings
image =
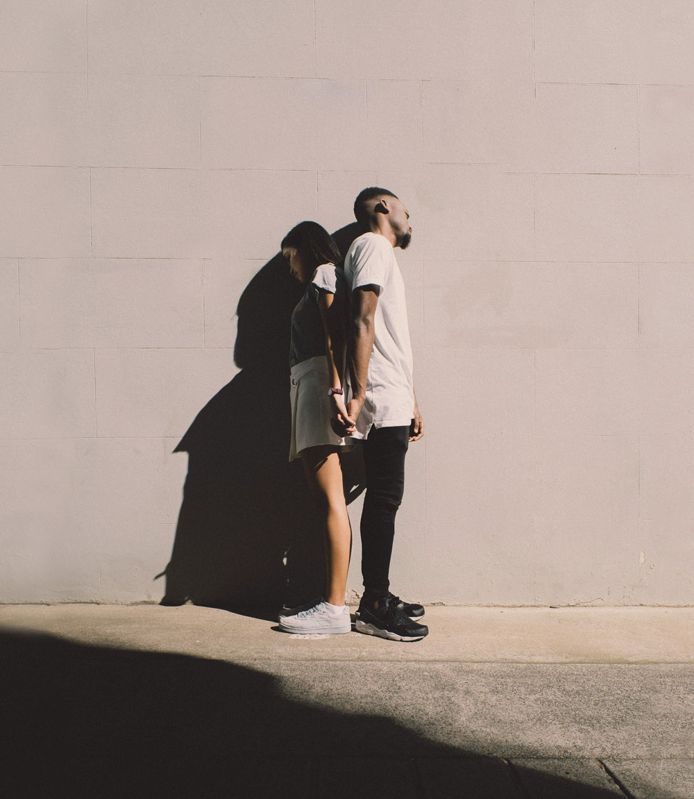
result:
[(361, 511), (361, 574), (365, 592), (386, 594), (395, 515), (404, 494), (410, 428), (372, 427), (364, 442), (366, 494)]

